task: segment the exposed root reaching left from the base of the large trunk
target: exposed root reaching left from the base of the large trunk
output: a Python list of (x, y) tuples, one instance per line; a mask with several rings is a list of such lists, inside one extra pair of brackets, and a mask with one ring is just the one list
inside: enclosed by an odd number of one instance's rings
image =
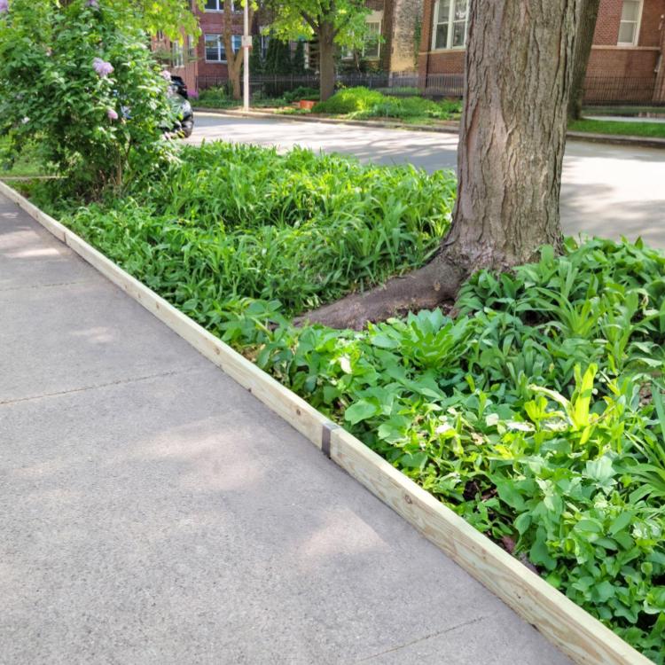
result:
[(389, 279), (367, 293), (352, 293), (340, 301), (315, 309), (295, 320), (331, 328), (361, 330), (368, 322), (402, 316), (410, 310), (432, 309), (454, 300), (465, 274), (439, 254), (426, 266), (408, 275)]

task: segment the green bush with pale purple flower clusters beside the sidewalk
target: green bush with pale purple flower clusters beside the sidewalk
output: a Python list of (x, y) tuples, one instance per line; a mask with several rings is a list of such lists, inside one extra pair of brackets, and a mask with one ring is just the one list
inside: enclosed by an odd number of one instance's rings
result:
[(74, 192), (120, 186), (168, 153), (168, 83), (111, 0), (0, 0), (0, 136), (39, 138)]

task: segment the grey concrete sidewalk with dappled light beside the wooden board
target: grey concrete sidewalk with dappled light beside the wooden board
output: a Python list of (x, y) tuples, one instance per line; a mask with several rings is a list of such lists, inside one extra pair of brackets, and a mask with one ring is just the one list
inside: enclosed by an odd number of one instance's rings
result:
[(567, 663), (0, 197), (0, 663)]

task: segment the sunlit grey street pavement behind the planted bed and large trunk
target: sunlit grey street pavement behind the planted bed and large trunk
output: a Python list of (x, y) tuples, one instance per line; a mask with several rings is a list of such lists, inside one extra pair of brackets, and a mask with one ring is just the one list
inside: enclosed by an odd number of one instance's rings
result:
[[(197, 113), (189, 142), (204, 139), (277, 145), (280, 150), (302, 145), (377, 164), (410, 162), (428, 171), (457, 163), (458, 137), (436, 132)], [(665, 248), (665, 150), (569, 141), (561, 219), (569, 235), (641, 236)]]

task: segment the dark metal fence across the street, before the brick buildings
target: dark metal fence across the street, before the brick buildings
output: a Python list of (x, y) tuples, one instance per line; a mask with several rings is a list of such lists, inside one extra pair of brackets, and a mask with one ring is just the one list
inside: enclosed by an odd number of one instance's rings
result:
[[(227, 85), (226, 76), (199, 76), (198, 90)], [(364, 86), (380, 90), (390, 95), (421, 95), (428, 98), (461, 98), (464, 95), (464, 74), (426, 74), (414, 73), (339, 73), (338, 88)], [(266, 98), (278, 98), (297, 88), (315, 88), (319, 86), (319, 77), (309, 75), (260, 75), (252, 76), (250, 90)], [(584, 84), (584, 103), (609, 105), (665, 106), (665, 98), (654, 100), (656, 76), (589, 76)]]

